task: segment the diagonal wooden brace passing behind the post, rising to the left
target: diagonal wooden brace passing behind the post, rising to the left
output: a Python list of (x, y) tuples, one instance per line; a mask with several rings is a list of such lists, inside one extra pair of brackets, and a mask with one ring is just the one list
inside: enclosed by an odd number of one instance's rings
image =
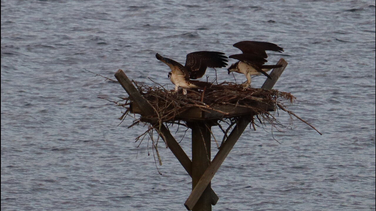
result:
[[(118, 69), (115, 73), (115, 78), (119, 81), (121, 86), (124, 90), (128, 93), (130, 99), (135, 102), (139, 108), (142, 110), (145, 116), (153, 115), (154, 110), (152, 106), (147, 102), (147, 100), (138, 92), (135, 86), (133, 86), (132, 82), (129, 80), (127, 75), (123, 72), (123, 70)], [(186, 155), (184, 150), (181, 148), (179, 143), (177, 143), (176, 139), (171, 135), (170, 131), (164, 124), (160, 124), (158, 122), (152, 122), (154, 128), (156, 128), (157, 132), (161, 135), (162, 139), (167, 143), (168, 148), (170, 148), (171, 152), (175, 155), (177, 160), (179, 160), (180, 164), (184, 167), (186, 172), (192, 177), (192, 161)], [(158, 128), (160, 130), (158, 130)], [(206, 185), (207, 186), (207, 185)], [(215, 205), (218, 202), (219, 197), (217, 194), (211, 190), (211, 203)]]

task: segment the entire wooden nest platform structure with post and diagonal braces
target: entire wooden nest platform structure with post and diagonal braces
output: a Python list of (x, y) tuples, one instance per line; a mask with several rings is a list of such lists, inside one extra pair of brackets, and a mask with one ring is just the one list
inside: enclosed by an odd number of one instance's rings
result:
[[(271, 71), (270, 77), (272, 79), (267, 79), (262, 85), (262, 89), (272, 89), (287, 66), (287, 62), (284, 59), (280, 59), (277, 64), (283, 66)], [(188, 127), (192, 130), (192, 159), (190, 159), (164, 124), (161, 124), (156, 118), (148, 118), (155, 114), (155, 110), (133, 86), (124, 72), (119, 69), (115, 73), (115, 77), (132, 101), (130, 112), (141, 114), (141, 117), (144, 117), (146, 122), (150, 122), (153, 125), (168, 148), (192, 177), (192, 192), (184, 203), (185, 207), (194, 211), (211, 211), (211, 206), (215, 205), (219, 199), (217, 194), (211, 189), (211, 179), (247, 128), (251, 121), (249, 117), (255, 115), (255, 111), (245, 107), (224, 105), (217, 106), (210, 111), (192, 108), (179, 113), (179, 115), (175, 116), (175, 119), (186, 121)], [(256, 103), (252, 106), (259, 107), (264, 111), (273, 111), (275, 109), (275, 104)], [(214, 159), (209, 160), (211, 158), (210, 146), (213, 120), (231, 117), (238, 117), (237, 124), (227, 136), (227, 139), (221, 144)], [(177, 185), (177, 187), (179, 186)]]

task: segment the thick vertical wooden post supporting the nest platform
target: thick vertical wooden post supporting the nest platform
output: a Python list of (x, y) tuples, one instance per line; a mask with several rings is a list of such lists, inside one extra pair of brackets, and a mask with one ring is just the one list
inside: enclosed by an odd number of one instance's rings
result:
[[(199, 182), (211, 160), (211, 133), (208, 122), (199, 121), (190, 124), (192, 129), (192, 190)], [(210, 183), (193, 207), (193, 211), (211, 211)]]

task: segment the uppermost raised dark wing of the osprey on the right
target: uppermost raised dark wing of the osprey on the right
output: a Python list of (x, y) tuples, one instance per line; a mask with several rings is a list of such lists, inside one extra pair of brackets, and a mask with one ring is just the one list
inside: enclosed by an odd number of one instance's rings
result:
[(239, 48), (243, 53), (253, 54), (262, 58), (267, 58), (265, 51), (277, 51), (282, 53), (283, 48), (271, 42), (259, 41), (241, 41), (233, 44), (233, 47)]

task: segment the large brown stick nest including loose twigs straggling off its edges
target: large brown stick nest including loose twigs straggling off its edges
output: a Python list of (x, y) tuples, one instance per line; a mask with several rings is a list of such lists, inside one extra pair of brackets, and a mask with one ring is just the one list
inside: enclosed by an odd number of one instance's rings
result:
[[(161, 86), (159, 84), (159, 86), (148, 86), (136, 81), (133, 81), (133, 83), (135, 84), (141, 95), (143, 95), (143, 97), (146, 98), (149, 104), (153, 107), (155, 114), (152, 116), (142, 116), (139, 118), (136, 118), (136, 116), (133, 115), (129, 115), (130, 108), (128, 107), (128, 105), (130, 105), (131, 99), (129, 97), (121, 98), (115, 103), (118, 106), (125, 108), (126, 111), (119, 119), (122, 119), (124, 121), (125, 116), (132, 116), (133, 118), (135, 118), (133, 124), (129, 125), (128, 128), (133, 127), (140, 122), (144, 122), (145, 119), (148, 118), (157, 119), (157, 122), (159, 122), (159, 124), (165, 123), (167, 127), (168, 124), (178, 124), (188, 127), (185, 121), (182, 121), (182, 119), (176, 117), (178, 117), (179, 114), (185, 112), (188, 109), (199, 108), (204, 112), (215, 111), (223, 113), (223, 118), (218, 118), (211, 122), (208, 121), (208, 123), (210, 123), (211, 126), (218, 125), (218, 127), (224, 133), (223, 140), (225, 140), (227, 137), (227, 132), (230, 130), (230, 128), (233, 127), (233, 125), (237, 123), (239, 116), (226, 117), (225, 112), (216, 110), (215, 107), (221, 105), (232, 105), (236, 107), (246, 107), (248, 109), (251, 109), (254, 115), (248, 116), (254, 130), (256, 130), (255, 125), (260, 127), (258, 123), (260, 123), (262, 127), (266, 125), (266, 123), (269, 123), (278, 131), (281, 131), (281, 127), (292, 129), (292, 116), (296, 116), (293, 112), (287, 109), (287, 106), (284, 105), (284, 102), (292, 104), (296, 98), (291, 95), (291, 93), (280, 92), (275, 89), (268, 90), (260, 88), (247, 88), (246, 90), (243, 90), (243, 87), (240, 85), (223, 82), (221, 84), (212, 84), (211, 87), (208, 87), (204, 90), (189, 89), (188, 94), (183, 95), (182, 90), (179, 90), (179, 92), (174, 92), (173, 90), (165, 89), (164, 86)], [(290, 124), (282, 124), (268, 110), (263, 109), (263, 107), (255, 106), (256, 102), (275, 105), (278, 115), (279, 110), (287, 112), (290, 116)], [(305, 122), (298, 116), (296, 117)], [(224, 126), (222, 123), (224, 123)], [(305, 123), (308, 124), (307, 122)], [(150, 138), (150, 136), (152, 136), (152, 134), (150, 134), (152, 129), (153, 125), (150, 124), (149, 129), (141, 136), (137, 137), (136, 140), (138, 140), (140, 137), (145, 136), (148, 132)]]

